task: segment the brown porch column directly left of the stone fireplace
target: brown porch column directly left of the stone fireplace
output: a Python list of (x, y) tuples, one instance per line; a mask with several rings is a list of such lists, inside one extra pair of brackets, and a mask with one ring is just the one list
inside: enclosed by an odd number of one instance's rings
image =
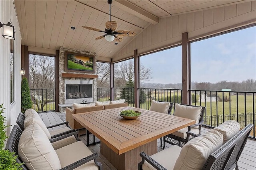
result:
[(60, 93), (60, 56), (59, 56), (59, 50), (56, 50), (56, 55), (54, 57), (55, 59), (55, 111), (59, 111), (59, 93)]

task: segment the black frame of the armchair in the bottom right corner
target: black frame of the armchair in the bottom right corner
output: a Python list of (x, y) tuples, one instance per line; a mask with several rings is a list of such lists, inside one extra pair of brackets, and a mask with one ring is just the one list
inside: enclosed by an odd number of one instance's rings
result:
[[(244, 150), (244, 146), (253, 126), (254, 125), (252, 124), (247, 125), (230, 140), (228, 140), (228, 142), (210, 154), (202, 170), (233, 170), (234, 168), (238, 170), (238, 159)], [(140, 156), (142, 157), (142, 161), (138, 164), (138, 170), (142, 170), (142, 164), (144, 164), (145, 160), (157, 170), (166, 170), (166, 168), (144, 152), (141, 152)]]

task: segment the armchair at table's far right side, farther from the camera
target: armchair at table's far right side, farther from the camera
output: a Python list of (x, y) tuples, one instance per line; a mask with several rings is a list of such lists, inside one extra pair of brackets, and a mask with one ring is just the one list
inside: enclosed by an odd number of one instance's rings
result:
[[(166, 106), (169, 105), (168, 110), (166, 111)], [(152, 100), (152, 104), (150, 106), (150, 111), (156, 111), (156, 112), (160, 112), (160, 113), (166, 113), (168, 115), (171, 114), (172, 112), (172, 108), (173, 108), (173, 103), (170, 103), (168, 101), (154, 101)], [(162, 137), (160, 138), (160, 146), (162, 146)]]

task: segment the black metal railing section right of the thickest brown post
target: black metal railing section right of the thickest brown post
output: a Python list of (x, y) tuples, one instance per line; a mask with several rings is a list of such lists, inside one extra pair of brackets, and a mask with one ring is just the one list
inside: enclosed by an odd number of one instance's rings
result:
[(250, 136), (255, 138), (256, 92), (190, 90), (192, 105), (206, 107), (204, 125), (217, 127), (227, 120), (235, 120), (240, 127), (253, 124)]

